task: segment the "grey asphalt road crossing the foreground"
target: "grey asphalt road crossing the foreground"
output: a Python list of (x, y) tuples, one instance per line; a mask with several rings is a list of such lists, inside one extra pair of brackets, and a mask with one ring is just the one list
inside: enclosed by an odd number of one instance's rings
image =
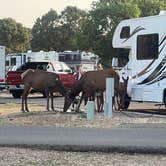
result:
[(0, 146), (66, 151), (166, 153), (164, 128), (0, 127)]

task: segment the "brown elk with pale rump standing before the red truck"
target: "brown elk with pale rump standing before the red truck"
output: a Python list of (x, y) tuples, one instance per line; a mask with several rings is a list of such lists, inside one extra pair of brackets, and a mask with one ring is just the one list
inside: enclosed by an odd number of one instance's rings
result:
[[(49, 111), (49, 97), (51, 96), (51, 109), (54, 111), (53, 92), (60, 92), (63, 96), (66, 89), (63, 87), (59, 75), (56, 73), (46, 72), (42, 70), (28, 69), (21, 74), (24, 82), (24, 91), (22, 95), (22, 112), (29, 112), (27, 105), (27, 97), (31, 89), (44, 91), (47, 96), (47, 110)], [(24, 109), (25, 103), (25, 109)]]

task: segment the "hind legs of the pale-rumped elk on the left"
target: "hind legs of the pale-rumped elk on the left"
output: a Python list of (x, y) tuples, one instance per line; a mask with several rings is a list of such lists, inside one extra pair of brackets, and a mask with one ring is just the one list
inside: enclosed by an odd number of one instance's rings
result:
[[(30, 90), (30, 85), (25, 85), (24, 86), (24, 92), (23, 92), (23, 95), (22, 95), (22, 112), (29, 112), (29, 109), (28, 109), (28, 104), (27, 104), (27, 97), (28, 97), (28, 94), (29, 94), (29, 90)], [(25, 110), (24, 110), (24, 103), (25, 103)]]

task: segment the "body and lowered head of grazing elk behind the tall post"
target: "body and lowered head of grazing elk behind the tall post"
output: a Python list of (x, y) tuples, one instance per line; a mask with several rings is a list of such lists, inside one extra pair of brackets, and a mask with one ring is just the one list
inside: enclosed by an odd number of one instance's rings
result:
[(106, 78), (113, 77), (115, 80), (115, 95), (119, 93), (119, 75), (112, 68), (99, 71), (86, 72), (75, 87), (65, 96), (63, 111), (66, 112), (76, 96), (82, 92), (82, 96), (88, 98), (93, 96), (94, 92), (104, 92), (106, 89)]

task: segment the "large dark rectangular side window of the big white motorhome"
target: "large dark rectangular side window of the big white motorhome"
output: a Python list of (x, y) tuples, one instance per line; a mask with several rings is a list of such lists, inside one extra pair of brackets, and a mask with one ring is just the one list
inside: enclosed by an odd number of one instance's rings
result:
[(139, 35), (137, 37), (137, 59), (158, 58), (158, 34)]

